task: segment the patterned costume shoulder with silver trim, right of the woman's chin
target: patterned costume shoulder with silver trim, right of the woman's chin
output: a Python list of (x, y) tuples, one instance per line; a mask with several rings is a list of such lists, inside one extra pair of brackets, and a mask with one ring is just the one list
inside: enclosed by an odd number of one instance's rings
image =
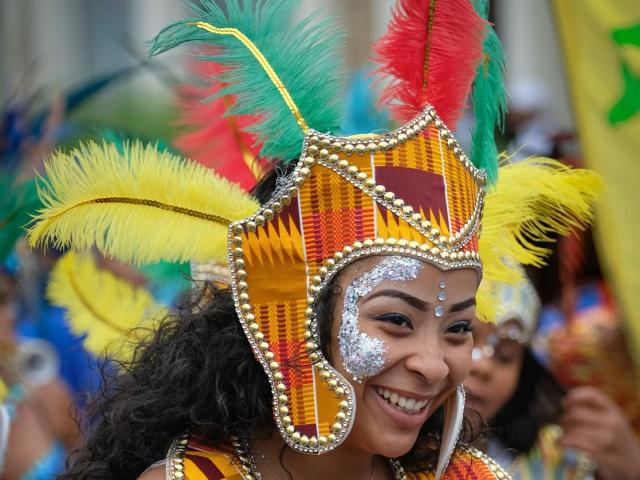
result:
[[(409, 480), (431, 480), (433, 473), (407, 474)], [(451, 456), (441, 480), (508, 480), (510, 475), (491, 457), (480, 450), (462, 445)]]

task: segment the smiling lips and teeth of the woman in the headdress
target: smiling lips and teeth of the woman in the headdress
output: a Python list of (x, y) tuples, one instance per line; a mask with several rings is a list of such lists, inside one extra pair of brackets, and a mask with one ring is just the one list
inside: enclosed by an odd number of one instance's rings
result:
[(429, 416), (433, 397), (376, 385), (371, 385), (367, 389), (370, 390), (379, 408), (403, 427), (420, 427)]

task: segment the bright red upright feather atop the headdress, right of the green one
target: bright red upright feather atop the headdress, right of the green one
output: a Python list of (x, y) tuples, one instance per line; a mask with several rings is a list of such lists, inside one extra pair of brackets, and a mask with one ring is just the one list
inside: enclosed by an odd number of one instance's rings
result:
[(374, 46), (377, 72), (391, 77), (380, 101), (397, 121), (429, 103), (455, 128), (482, 60), (485, 28), (469, 0), (398, 0)]

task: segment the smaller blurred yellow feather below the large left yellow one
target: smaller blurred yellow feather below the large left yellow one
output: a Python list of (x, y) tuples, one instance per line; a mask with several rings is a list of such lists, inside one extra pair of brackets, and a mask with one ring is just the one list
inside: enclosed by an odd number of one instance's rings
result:
[[(66, 253), (49, 277), (47, 298), (67, 310), (76, 335), (86, 335), (84, 346), (99, 357), (128, 361), (136, 343), (144, 340), (154, 319), (167, 309), (144, 289), (96, 267), (90, 254)], [(132, 330), (135, 329), (135, 330)]]

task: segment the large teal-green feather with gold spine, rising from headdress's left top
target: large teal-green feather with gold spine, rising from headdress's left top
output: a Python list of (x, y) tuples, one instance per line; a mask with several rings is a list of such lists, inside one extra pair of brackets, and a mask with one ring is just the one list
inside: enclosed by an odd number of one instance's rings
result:
[(214, 0), (188, 4), (197, 18), (174, 23), (151, 42), (150, 54), (186, 42), (217, 47), (201, 55), (226, 67), (219, 79), (227, 83), (217, 96), (236, 95), (228, 115), (257, 115), (247, 130), (257, 133), (261, 156), (297, 159), (304, 134), (280, 91), (254, 55), (237, 38), (202, 30), (195, 21), (218, 28), (236, 28), (262, 52), (297, 105), (307, 125), (320, 132), (335, 132), (341, 125), (342, 74), (338, 49), (343, 33), (331, 20), (316, 22), (312, 15), (294, 24), (299, 0), (228, 0), (223, 10)]

